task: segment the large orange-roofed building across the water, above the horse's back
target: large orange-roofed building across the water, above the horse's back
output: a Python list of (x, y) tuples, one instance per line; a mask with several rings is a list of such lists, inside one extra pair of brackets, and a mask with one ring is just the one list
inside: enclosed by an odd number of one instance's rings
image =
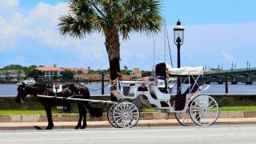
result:
[(62, 77), (64, 69), (59, 67), (38, 67), (36, 70), (42, 71), (46, 79), (54, 79)]

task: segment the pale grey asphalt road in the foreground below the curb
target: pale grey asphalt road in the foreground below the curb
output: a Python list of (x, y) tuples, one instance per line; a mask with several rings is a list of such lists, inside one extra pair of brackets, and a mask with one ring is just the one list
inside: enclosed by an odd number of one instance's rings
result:
[(256, 125), (0, 131), (1, 144), (255, 144)]

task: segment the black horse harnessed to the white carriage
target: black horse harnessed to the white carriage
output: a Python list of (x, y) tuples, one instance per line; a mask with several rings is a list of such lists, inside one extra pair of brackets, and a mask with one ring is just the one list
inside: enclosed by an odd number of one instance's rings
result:
[[(78, 86), (75, 84), (69, 84), (66, 86), (62, 86), (62, 92), (57, 95), (54, 93), (54, 88), (48, 88), (46, 84), (34, 84), (34, 85), (25, 85), (24, 83), (21, 86), (18, 86), (18, 94), (16, 97), (16, 102), (23, 103), (27, 94), (37, 96), (38, 94), (56, 96), (56, 97), (70, 97), (74, 96), (74, 98), (86, 98), (90, 99), (90, 91), (86, 86)], [(48, 119), (48, 126), (46, 130), (51, 130), (54, 128), (54, 122), (51, 114), (52, 106), (66, 106), (70, 105), (71, 101), (66, 99), (58, 99), (58, 98), (40, 98), (38, 97), (39, 102), (44, 106), (46, 110), (46, 115)], [(89, 110), (90, 116), (93, 117), (101, 117), (102, 116), (102, 108), (94, 108), (90, 102), (77, 102), (78, 111), (79, 111), (79, 120), (78, 125), (75, 129), (85, 129), (86, 128), (86, 109)], [(83, 123), (82, 123), (83, 119)], [(82, 123), (82, 126), (81, 126)]]

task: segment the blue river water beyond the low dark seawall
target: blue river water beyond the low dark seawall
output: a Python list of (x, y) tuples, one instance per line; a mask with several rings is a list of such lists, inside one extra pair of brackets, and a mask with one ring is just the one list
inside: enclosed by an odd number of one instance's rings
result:
[[(102, 90), (100, 89), (101, 83), (91, 83), (86, 84), (86, 86), (90, 89), (90, 94), (102, 94)], [(206, 87), (209, 85), (204, 85)], [(96, 91), (94, 91), (96, 90)], [(175, 87), (174, 87), (175, 90)], [(183, 89), (186, 90), (186, 89)], [(208, 90), (205, 91), (206, 94), (224, 94), (225, 93), (225, 85), (218, 84), (210, 84)], [(229, 93), (230, 94), (256, 94), (256, 85), (229, 85)], [(0, 97), (14, 97), (17, 94), (17, 86), (15, 84), (0, 84)], [(105, 87), (105, 94), (110, 94), (110, 87)]]

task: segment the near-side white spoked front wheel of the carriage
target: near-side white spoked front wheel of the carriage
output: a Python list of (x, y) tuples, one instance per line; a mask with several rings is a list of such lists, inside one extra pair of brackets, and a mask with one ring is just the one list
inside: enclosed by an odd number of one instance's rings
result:
[(114, 106), (114, 123), (122, 128), (130, 128), (137, 124), (139, 119), (139, 110), (132, 102), (121, 102)]

